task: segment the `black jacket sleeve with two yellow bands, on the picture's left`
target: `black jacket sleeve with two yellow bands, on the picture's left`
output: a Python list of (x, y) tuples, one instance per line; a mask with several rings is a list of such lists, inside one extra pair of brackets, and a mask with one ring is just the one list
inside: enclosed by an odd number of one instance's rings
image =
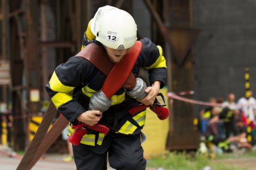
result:
[(69, 122), (85, 112), (75, 95), (78, 86), (90, 74), (91, 63), (80, 57), (71, 57), (66, 63), (56, 67), (46, 90), (57, 108)]

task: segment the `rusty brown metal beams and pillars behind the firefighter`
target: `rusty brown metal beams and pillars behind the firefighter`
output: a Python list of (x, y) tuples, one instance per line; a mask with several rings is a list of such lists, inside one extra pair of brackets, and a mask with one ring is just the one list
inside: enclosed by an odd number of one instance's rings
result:
[[(13, 148), (24, 150), (28, 144), (29, 117), (44, 113), (49, 104), (44, 88), (49, 76), (59, 63), (80, 50), (83, 32), (96, 10), (111, 5), (132, 14), (136, 1), (0, 2), (0, 59), (10, 64), (11, 75), (7, 78), (9, 83), (3, 83), (4, 78), (0, 77), (1, 103), (8, 103), (7, 109), (12, 110)], [(151, 14), (152, 40), (165, 51), (169, 91), (193, 89), (189, 49), (200, 30), (193, 29), (192, 0), (143, 0), (143, 3)], [(138, 36), (141, 38), (140, 30)], [(194, 137), (197, 132), (192, 124), (193, 106), (175, 101), (171, 110), (167, 149), (196, 149), (198, 138)], [(191, 140), (187, 139), (189, 137)]]

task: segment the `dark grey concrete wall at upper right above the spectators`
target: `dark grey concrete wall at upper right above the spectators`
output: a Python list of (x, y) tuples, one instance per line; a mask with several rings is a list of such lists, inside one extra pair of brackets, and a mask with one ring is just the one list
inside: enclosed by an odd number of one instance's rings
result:
[[(194, 47), (195, 99), (244, 94), (244, 68), (250, 69), (256, 94), (256, 1), (194, 0), (194, 28), (201, 29)], [(196, 106), (196, 112), (203, 106)]]

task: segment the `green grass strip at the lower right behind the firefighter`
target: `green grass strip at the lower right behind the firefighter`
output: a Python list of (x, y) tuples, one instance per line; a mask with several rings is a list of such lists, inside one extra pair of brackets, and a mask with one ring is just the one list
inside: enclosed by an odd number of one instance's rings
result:
[[(227, 156), (221, 157), (221, 159), (225, 158)], [(214, 163), (207, 156), (197, 155), (195, 153), (170, 152), (166, 155), (160, 155), (147, 160), (147, 167), (163, 167), (168, 170), (199, 170), (205, 166), (210, 166), (212, 169), (218, 170), (246, 170), (246, 168)]]

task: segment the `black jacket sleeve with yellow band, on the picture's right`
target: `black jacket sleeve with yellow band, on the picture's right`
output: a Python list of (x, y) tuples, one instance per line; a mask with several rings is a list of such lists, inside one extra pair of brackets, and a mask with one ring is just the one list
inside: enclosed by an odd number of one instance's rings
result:
[(138, 59), (139, 65), (148, 70), (150, 84), (160, 81), (160, 88), (162, 88), (165, 85), (167, 73), (162, 47), (155, 45), (148, 38), (143, 38), (141, 42), (143, 45)]

